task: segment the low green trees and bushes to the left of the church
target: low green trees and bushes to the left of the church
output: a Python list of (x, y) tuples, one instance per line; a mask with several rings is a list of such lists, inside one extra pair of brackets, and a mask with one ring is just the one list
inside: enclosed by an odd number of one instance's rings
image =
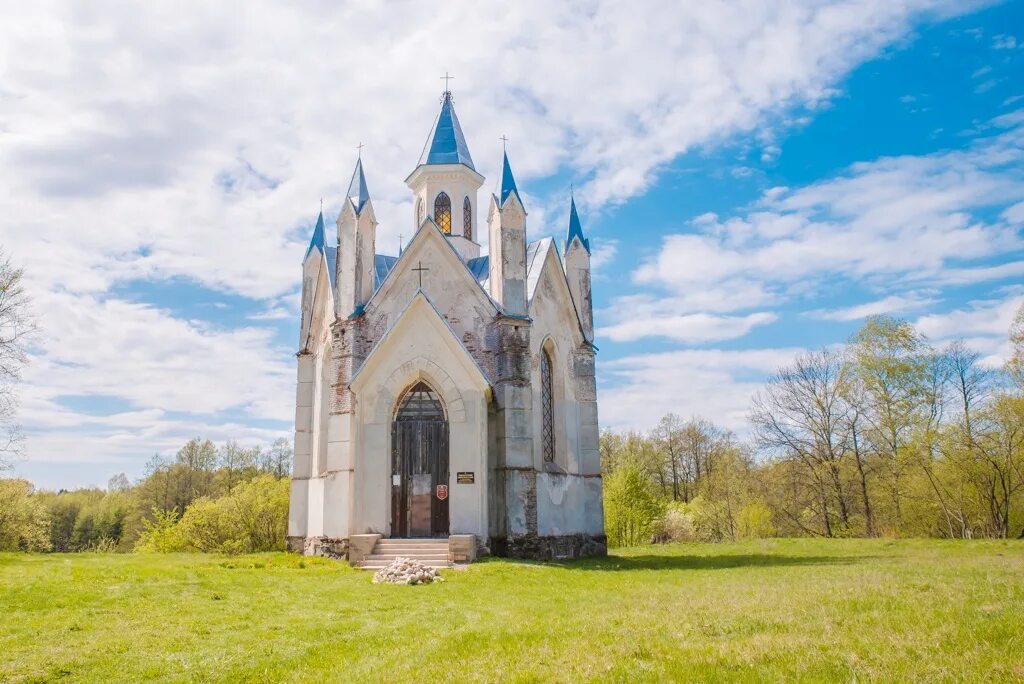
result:
[(132, 483), (37, 491), (0, 479), (0, 551), (271, 551), (285, 548), (292, 448), (189, 439)]

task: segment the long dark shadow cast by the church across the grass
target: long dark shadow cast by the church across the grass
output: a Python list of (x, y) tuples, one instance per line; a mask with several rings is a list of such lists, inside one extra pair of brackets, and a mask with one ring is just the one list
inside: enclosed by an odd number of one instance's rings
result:
[(862, 557), (848, 556), (784, 556), (780, 554), (735, 554), (721, 556), (613, 556), (583, 558), (564, 563), (580, 570), (719, 570), (736, 567), (793, 567), (799, 565), (850, 565)]

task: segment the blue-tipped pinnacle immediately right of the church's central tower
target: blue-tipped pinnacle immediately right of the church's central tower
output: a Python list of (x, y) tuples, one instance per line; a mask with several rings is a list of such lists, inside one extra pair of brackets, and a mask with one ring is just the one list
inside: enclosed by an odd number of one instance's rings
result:
[(490, 198), (489, 230), (490, 296), (506, 313), (526, 314), (526, 210), (515, 186), (506, 154), (502, 182)]

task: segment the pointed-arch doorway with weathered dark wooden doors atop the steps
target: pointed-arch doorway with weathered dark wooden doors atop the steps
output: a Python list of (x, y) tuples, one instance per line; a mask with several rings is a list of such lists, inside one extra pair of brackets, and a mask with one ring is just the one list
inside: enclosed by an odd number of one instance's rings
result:
[(449, 425), (426, 383), (406, 392), (391, 425), (391, 536), (447, 537)]

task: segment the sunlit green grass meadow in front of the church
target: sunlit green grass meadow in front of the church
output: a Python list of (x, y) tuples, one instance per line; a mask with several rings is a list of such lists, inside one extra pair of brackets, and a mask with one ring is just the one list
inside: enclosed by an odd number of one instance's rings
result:
[(1024, 681), (1024, 543), (781, 540), (373, 585), (285, 554), (0, 554), (0, 680)]

